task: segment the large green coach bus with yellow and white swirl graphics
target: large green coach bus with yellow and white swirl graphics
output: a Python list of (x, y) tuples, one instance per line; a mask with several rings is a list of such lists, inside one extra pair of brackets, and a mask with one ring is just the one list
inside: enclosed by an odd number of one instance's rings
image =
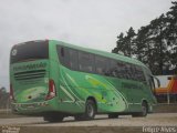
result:
[(60, 122), (153, 112), (154, 76), (142, 62), (124, 55), (56, 40), (14, 44), (10, 52), (12, 111)]

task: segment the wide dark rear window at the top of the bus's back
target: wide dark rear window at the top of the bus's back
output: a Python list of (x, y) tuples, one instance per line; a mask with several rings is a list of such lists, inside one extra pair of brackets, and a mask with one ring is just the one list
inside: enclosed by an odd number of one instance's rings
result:
[(17, 44), (11, 50), (10, 62), (22, 62), (28, 60), (49, 59), (48, 41), (30, 41)]

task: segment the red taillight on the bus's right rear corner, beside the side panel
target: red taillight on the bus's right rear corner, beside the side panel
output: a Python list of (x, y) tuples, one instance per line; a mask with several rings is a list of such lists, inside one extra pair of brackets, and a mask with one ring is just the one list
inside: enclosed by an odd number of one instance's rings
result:
[(45, 100), (51, 100), (54, 96), (56, 96), (55, 84), (54, 84), (53, 80), (50, 80), (49, 81), (49, 92), (48, 92), (48, 95), (46, 95)]

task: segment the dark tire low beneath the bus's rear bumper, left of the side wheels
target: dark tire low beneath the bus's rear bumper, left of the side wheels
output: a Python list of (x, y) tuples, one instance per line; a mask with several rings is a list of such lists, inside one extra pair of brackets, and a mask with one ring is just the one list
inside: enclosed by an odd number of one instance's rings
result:
[(61, 116), (61, 115), (45, 115), (43, 116), (43, 120), (44, 121), (48, 121), (48, 122), (62, 122), (64, 119), (64, 116)]

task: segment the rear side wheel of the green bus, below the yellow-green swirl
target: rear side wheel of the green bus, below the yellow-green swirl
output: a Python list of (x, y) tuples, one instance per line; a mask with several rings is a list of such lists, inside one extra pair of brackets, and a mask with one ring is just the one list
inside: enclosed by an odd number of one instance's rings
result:
[(93, 100), (87, 100), (85, 104), (85, 119), (86, 120), (93, 120), (96, 114), (96, 105)]

